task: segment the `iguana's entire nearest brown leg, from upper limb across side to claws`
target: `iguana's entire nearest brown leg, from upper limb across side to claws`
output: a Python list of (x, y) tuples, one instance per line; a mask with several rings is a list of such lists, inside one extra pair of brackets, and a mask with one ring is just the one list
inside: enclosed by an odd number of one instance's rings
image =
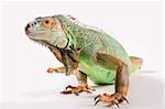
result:
[[(113, 68), (117, 67), (116, 85), (114, 85), (116, 91), (112, 95), (107, 92), (98, 95), (95, 98), (96, 100), (95, 105), (97, 105), (99, 101), (102, 101), (108, 106), (117, 105), (119, 107), (118, 103), (124, 100), (128, 102), (128, 100), (125, 99), (129, 88), (128, 66), (111, 55), (99, 53), (98, 56), (99, 57), (97, 57), (97, 59), (99, 59), (99, 62), (101, 62), (102, 64), (105, 63), (107, 67), (108, 66)], [(108, 63), (108, 59), (111, 62)]]

